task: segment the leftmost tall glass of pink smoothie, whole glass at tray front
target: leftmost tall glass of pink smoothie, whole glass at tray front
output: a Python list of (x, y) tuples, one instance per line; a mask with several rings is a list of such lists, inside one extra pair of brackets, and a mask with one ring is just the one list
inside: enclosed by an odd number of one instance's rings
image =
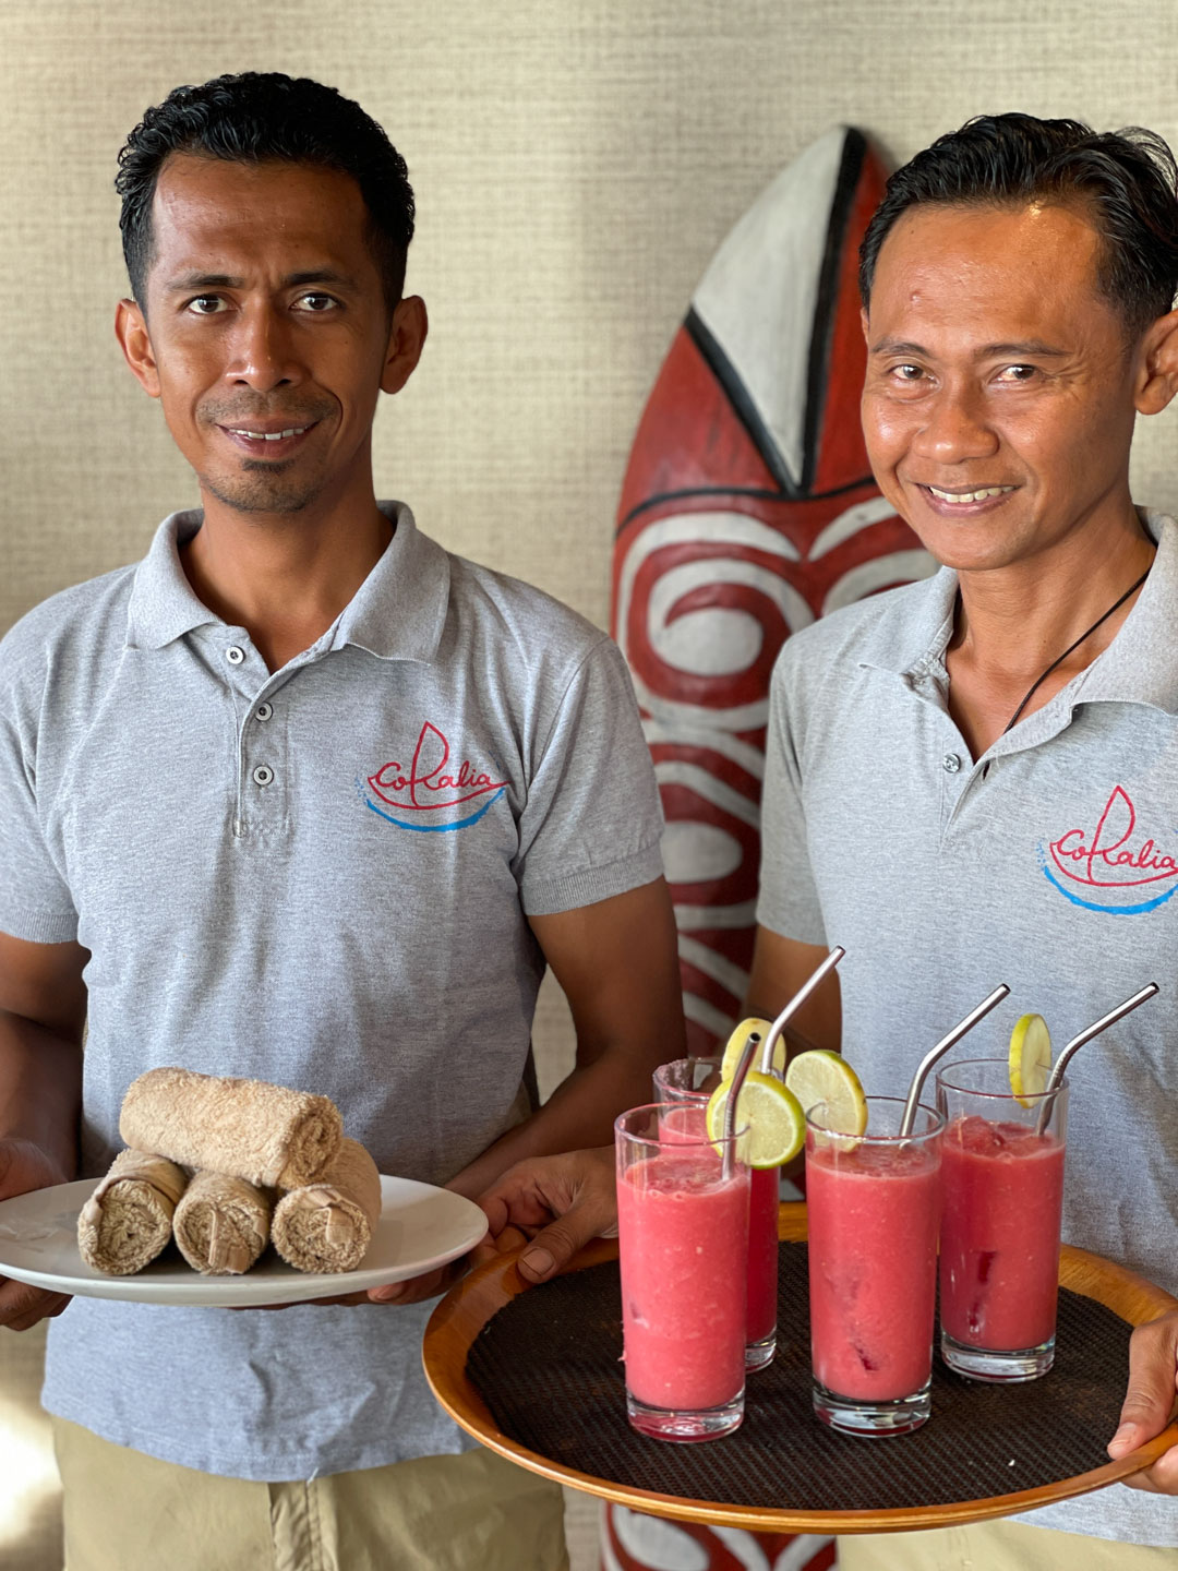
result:
[(655, 1103), (614, 1123), (627, 1414), (661, 1441), (744, 1417), (749, 1169), (738, 1137), (693, 1136), (693, 1111)]

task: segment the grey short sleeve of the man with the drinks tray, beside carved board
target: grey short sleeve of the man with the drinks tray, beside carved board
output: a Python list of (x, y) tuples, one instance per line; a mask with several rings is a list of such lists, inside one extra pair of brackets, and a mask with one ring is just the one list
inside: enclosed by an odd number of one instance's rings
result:
[(760, 800), (760, 892), (757, 921), (799, 944), (825, 944), (826, 930), (810, 867), (801, 767), (792, 713), (799, 694), (796, 661), (779, 660), (770, 687), (765, 789)]

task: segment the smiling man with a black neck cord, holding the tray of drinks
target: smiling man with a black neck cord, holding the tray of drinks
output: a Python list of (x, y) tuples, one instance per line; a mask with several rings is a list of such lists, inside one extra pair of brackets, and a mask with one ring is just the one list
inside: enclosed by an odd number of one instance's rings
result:
[[(845, 946), (804, 1029), (895, 1095), (1001, 980), (979, 1053), (1158, 980), (1070, 1071), (1063, 1232), (1178, 1291), (1178, 525), (1128, 484), (1136, 416), (1178, 388), (1173, 160), (974, 121), (892, 176), (861, 281), (872, 467), (944, 567), (781, 655), (751, 1004)], [(1176, 1348), (1178, 1316), (1137, 1338), (1117, 1452), (1164, 1428)], [(1178, 1508), (1147, 1491), (1178, 1492), (1178, 1448), (1140, 1485), (848, 1538), (842, 1565), (1170, 1565)]]

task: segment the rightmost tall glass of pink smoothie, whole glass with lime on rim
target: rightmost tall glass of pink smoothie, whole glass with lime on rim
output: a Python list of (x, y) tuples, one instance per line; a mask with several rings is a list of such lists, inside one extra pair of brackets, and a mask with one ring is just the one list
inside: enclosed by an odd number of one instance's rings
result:
[(936, 1101), (941, 1357), (972, 1379), (1037, 1379), (1055, 1357), (1068, 1082), (1015, 1097), (1005, 1059), (964, 1059), (938, 1073)]

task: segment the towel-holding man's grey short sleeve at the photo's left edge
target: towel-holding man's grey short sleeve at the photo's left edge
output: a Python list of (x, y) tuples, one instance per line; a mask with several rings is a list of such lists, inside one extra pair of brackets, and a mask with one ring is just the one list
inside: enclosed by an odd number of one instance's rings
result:
[(77, 911), (42, 829), (36, 721), (0, 646), (0, 932), (64, 944), (77, 938)]

